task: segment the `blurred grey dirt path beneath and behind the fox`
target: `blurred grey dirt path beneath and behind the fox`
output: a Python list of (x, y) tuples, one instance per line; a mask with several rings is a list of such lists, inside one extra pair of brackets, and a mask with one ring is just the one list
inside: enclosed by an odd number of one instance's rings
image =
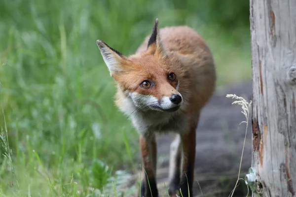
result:
[[(242, 124), (240, 127), (239, 124), (245, 121), (245, 117), (241, 113), (241, 107), (236, 104), (231, 105), (233, 100), (226, 98), (226, 94), (236, 94), (250, 101), (252, 99), (252, 83), (244, 83), (216, 91), (214, 97), (203, 109), (196, 134), (196, 181), (194, 182), (196, 197), (201, 197), (198, 182), (204, 197), (227, 197), (233, 189), (238, 175), (246, 128), (246, 124)], [(251, 165), (251, 137), (250, 120), (242, 162), (242, 178)], [(172, 138), (173, 135), (158, 136), (157, 138), (157, 182), (160, 196), (165, 196), (163, 183), (167, 182), (169, 149)], [(130, 180), (129, 185), (134, 183), (135, 178)], [(241, 182), (236, 191), (234, 196), (246, 197), (247, 188), (244, 182)]]

